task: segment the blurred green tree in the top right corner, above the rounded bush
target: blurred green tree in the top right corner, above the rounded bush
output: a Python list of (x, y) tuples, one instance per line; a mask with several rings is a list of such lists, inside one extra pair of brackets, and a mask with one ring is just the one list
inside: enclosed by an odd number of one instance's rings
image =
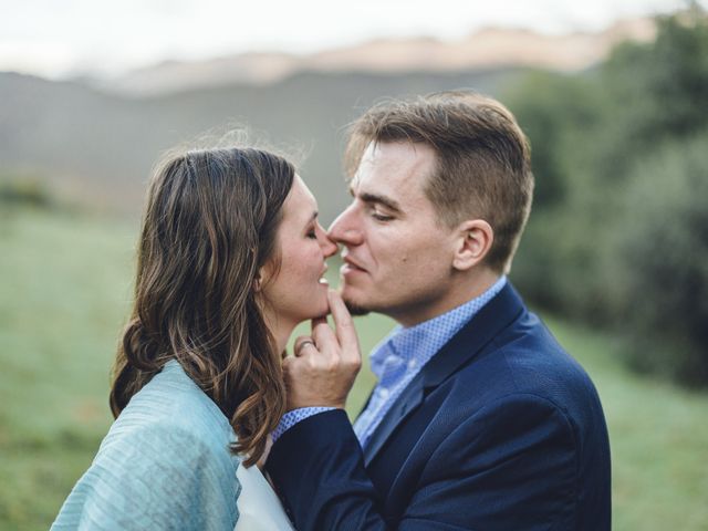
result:
[(650, 43), (620, 44), (601, 69), (607, 93), (598, 169), (608, 180), (626, 175), (642, 153), (690, 135), (708, 123), (708, 22), (697, 6), (657, 19)]

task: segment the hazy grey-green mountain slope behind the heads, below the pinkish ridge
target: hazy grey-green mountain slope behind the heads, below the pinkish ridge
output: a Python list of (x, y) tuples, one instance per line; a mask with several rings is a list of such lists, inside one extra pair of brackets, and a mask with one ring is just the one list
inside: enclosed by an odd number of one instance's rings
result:
[[(275, 147), (306, 153), (300, 170), (326, 222), (346, 204), (344, 126), (384, 96), (473, 87), (498, 94), (524, 70), (437, 74), (293, 74), (152, 96), (0, 73), (0, 179), (35, 176), (81, 204), (135, 215), (160, 154), (247, 125)], [(209, 132), (214, 131), (214, 134)], [(261, 136), (263, 136), (261, 135)]]

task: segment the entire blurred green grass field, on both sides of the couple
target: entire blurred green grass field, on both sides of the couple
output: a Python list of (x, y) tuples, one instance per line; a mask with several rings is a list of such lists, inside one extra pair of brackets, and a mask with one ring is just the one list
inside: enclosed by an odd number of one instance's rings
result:
[[(40, 530), (111, 424), (108, 373), (129, 308), (137, 227), (0, 208), (0, 529)], [(708, 394), (631, 374), (612, 339), (546, 322), (603, 399), (614, 529), (708, 530)], [(358, 320), (363, 351), (391, 326)], [(363, 371), (350, 413), (372, 383)]]

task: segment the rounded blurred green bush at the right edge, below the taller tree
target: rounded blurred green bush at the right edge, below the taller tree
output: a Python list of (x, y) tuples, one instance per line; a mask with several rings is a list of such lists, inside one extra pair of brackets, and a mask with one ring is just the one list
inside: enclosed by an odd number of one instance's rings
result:
[(633, 366), (708, 383), (708, 129), (638, 164), (602, 277)]

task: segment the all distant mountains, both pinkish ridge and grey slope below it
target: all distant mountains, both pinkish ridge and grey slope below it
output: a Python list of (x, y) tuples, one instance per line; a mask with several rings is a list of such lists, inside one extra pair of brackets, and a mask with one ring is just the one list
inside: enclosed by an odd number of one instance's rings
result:
[(0, 72), (0, 179), (35, 176), (76, 201), (135, 215), (160, 153), (240, 124), (309, 153), (300, 170), (326, 222), (348, 200), (344, 127), (377, 100), (460, 87), (503, 98), (530, 70), (589, 67), (611, 42), (647, 39), (653, 28), (639, 21), (570, 40), (489, 30), (467, 44), (417, 39), (302, 58), (246, 54), (164, 64), (102, 87)]

